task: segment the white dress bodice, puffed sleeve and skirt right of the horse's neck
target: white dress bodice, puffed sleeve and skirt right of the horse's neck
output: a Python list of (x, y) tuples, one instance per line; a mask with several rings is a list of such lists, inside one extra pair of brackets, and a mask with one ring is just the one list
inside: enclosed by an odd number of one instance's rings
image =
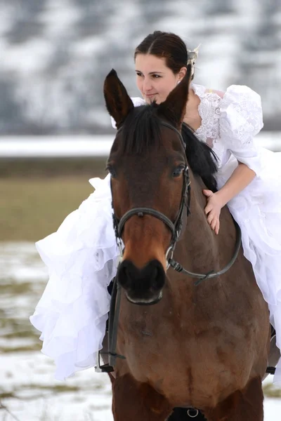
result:
[[(238, 161), (255, 173), (254, 180), (228, 202), (240, 225), (245, 257), (268, 302), (270, 322), (281, 349), (281, 156), (263, 149), (254, 136), (263, 127), (260, 96), (247, 86), (230, 86), (223, 98), (195, 86), (200, 97), (200, 139), (213, 145), (219, 163), (218, 188), (226, 184)], [(281, 383), (281, 361), (274, 382)]]

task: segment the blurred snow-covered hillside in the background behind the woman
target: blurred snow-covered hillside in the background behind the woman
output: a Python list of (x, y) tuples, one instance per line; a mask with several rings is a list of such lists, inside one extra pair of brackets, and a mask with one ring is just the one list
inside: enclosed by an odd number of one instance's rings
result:
[[(0, 81), (7, 82), (6, 107), (11, 109), (0, 125), (5, 133), (13, 133), (18, 121), (25, 133), (30, 126), (43, 127), (44, 133), (50, 126), (58, 133), (89, 123), (104, 128), (105, 74), (117, 68), (126, 88), (136, 93), (133, 51), (154, 30), (175, 32), (190, 49), (202, 43), (195, 81), (220, 90), (231, 83), (249, 84), (261, 95), (265, 118), (279, 125), (277, 1), (270, 8), (267, 0), (231, 1), (229, 8), (221, 0), (188, 6), (184, 0), (124, 0), (122, 8), (110, 0), (46, 0), (41, 6), (26, 1), (27, 7), (1, 4)], [(13, 114), (14, 103), (20, 119)]]

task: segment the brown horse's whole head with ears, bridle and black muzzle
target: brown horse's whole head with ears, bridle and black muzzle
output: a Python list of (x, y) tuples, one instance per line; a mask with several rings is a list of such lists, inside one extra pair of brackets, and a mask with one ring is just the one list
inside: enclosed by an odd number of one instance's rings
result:
[(178, 240), (188, 189), (181, 123), (190, 67), (165, 102), (133, 107), (114, 70), (105, 79), (107, 109), (117, 124), (107, 168), (117, 238), (124, 242), (118, 280), (129, 301), (162, 298), (166, 253)]

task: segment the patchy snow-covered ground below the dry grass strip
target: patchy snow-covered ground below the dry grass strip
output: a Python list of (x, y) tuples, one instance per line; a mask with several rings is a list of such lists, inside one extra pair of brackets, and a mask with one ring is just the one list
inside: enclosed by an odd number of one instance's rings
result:
[[(0, 420), (113, 420), (107, 375), (91, 369), (59, 382), (53, 361), (39, 351), (28, 316), (47, 272), (34, 244), (0, 243), (0, 267), (0, 402), (11, 411), (0, 409)], [(266, 421), (280, 420), (281, 399), (266, 398), (264, 406)]]

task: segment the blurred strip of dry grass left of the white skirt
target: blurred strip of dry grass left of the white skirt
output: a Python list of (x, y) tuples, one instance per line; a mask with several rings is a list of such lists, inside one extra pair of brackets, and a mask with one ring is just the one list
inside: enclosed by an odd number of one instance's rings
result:
[(1, 178), (1, 241), (36, 241), (56, 231), (93, 192), (88, 178)]

